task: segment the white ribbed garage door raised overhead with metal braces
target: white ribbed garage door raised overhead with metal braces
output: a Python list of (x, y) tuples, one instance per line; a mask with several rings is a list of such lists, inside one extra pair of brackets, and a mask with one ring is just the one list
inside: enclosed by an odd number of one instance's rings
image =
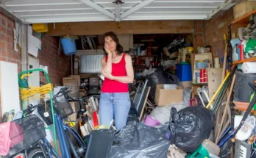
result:
[[(199, 20), (227, 0), (1, 0), (1, 7), (26, 24), (80, 21)], [(124, 2), (124, 3), (120, 3)]]

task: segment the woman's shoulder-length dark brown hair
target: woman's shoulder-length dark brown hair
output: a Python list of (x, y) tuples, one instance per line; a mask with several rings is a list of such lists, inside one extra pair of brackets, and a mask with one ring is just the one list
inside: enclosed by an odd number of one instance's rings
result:
[[(115, 48), (115, 50), (116, 50), (116, 54), (117, 54), (117, 55), (120, 55), (120, 54), (124, 53), (123, 46), (120, 45), (119, 40), (118, 40), (118, 37), (117, 37), (117, 35), (115, 34), (115, 32), (106, 32), (106, 33), (104, 33), (103, 39), (102, 39), (102, 49), (103, 49), (103, 51), (106, 51), (106, 50), (105, 50), (105, 38), (106, 38), (106, 37), (111, 37), (111, 38), (115, 41), (115, 43), (116, 43), (116, 48)], [(105, 52), (105, 55), (107, 55), (106, 52)]]

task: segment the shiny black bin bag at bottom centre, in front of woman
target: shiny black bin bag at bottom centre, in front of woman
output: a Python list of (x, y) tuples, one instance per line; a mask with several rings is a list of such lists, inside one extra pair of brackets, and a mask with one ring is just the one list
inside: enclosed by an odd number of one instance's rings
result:
[(168, 146), (164, 129), (134, 121), (115, 135), (108, 158), (166, 158)]

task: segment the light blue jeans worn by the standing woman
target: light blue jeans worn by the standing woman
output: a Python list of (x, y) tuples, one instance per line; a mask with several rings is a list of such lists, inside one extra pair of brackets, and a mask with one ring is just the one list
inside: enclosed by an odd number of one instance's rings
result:
[(101, 93), (99, 100), (101, 125), (109, 125), (114, 118), (115, 128), (122, 129), (127, 124), (130, 107), (129, 93)]

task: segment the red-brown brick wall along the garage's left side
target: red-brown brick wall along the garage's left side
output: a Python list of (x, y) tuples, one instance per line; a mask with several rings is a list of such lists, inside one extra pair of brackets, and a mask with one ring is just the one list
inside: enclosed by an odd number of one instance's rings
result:
[[(0, 12), (0, 61), (18, 64), (18, 72), (21, 71), (21, 54), (13, 49), (13, 28), (15, 23)], [(49, 67), (51, 83), (61, 84), (62, 78), (71, 74), (71, 58), (63, 52), (58, 53), (59, 41), (56, 37), (43, 37), (42, 50), (38, 53), (40, 65)], [(46, 82), (41, 74), (40, 80)]]

